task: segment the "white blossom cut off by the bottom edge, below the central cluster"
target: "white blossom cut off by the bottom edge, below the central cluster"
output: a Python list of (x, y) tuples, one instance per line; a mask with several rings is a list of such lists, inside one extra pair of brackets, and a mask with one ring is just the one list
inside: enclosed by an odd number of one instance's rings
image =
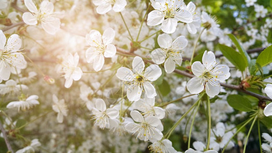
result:
[(176, 153), (174, 147), (172, 147), (172, 142), (168, 139), (163, 139), (160, 141), (154, 142), (149, 146), (151, 152), (161, 152), (161, 153)]

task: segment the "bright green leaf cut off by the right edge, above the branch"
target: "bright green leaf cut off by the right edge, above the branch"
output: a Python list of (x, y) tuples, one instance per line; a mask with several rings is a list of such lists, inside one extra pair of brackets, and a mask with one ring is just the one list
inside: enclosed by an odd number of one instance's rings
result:
[(263, 52), (258, 56), (256, 62), (259, 63), (261, 67), (272, 62), (272, 45), (263, 50)]

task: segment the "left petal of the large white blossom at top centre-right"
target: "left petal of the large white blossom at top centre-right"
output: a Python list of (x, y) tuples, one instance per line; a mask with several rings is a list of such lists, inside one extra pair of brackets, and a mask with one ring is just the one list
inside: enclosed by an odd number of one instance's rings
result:
[(153, 10), (147, 15), (147, 25), (155, 26), (162, 23), (164, 14), (161, 11)]

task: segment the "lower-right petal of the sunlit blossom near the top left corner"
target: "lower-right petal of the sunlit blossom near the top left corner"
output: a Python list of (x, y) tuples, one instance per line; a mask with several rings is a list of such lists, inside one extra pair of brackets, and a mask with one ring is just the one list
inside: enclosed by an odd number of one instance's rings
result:
[(41, 27), (46, 33), (54, 35), (60, 29), (60, 19), (54, 17), (46, 19), (41, 22)]

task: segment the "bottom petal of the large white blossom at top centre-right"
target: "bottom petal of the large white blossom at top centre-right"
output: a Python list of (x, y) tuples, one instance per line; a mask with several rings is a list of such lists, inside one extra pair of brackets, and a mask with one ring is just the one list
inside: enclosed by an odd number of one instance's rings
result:
[(161, 30), (166, 34), (172, 34), (176, 31), (178, 20), (175, 18), (167, 18), (162, 21)]

